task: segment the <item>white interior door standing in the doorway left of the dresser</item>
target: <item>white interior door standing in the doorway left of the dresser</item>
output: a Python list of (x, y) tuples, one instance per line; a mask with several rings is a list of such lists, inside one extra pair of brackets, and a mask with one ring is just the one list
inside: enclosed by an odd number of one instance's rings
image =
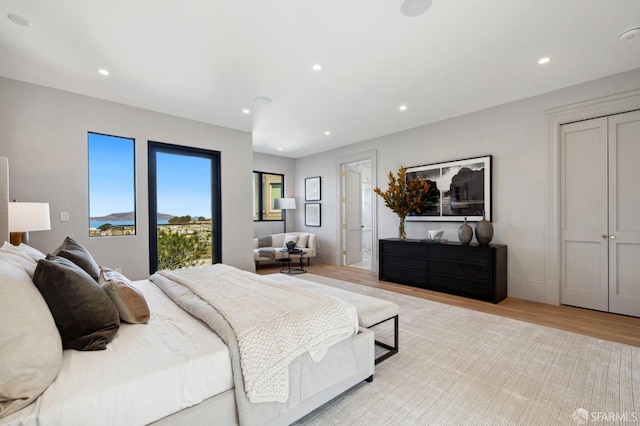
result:
[(345, 166), (345, 265), (362, 261), (362, 179)]

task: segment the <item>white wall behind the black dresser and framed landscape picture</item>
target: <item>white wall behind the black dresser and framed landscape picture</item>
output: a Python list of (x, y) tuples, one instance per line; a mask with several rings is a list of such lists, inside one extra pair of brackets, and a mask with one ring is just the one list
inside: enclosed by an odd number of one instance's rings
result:
[[(640, 88), (640, 69), (461, 117), (364, 141), (296, 161), (297, 195), (304, 177), (322, 177), (322, 227), (319, 261), (339, 264), (337, 159), (377, 151), (377, 185), (400, 166), (417, 166), (493, 155), (493, 243), (508, 245), (509, 295), (544, 301), (545, 111)], [(411, 113), (410, 110), (405, 113)], [(398, 218), (377, 197), (378, 238), (398, 236)], [(298, 219), (300, 215), (298, 214)], [(457, 241), (459, 223), (407, 224), (408, 238), (425, 238), (443, 229)], [(372, 259), (377, 263), (377, 259)]]

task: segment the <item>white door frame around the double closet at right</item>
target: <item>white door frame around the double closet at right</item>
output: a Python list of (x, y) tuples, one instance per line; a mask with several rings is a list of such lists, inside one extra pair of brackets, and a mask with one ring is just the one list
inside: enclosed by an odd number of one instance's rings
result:
[(545, 112), (547, 158), (544, 302), (560, 304), (560, 126), (640, 109), (640, 89)]

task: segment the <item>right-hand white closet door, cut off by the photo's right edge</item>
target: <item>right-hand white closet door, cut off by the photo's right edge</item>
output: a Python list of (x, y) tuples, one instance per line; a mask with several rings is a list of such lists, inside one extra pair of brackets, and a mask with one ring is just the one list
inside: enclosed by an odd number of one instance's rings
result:
[(640, 111), (609, 117), (609, 311), (640, 316)]

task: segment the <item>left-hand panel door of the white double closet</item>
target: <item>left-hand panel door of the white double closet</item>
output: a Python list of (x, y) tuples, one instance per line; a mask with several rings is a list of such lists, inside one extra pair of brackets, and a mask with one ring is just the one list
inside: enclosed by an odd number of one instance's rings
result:
[(607, 311), (607, 119), (561, 127), (561, 296)]

